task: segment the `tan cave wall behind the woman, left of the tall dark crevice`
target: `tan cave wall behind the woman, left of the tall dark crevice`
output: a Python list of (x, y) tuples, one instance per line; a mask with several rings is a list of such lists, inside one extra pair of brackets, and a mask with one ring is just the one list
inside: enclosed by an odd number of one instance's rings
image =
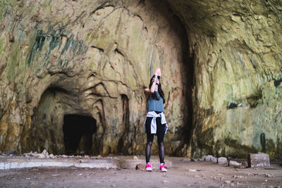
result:
[(176, 153), (192, 62), (168, 4), (1, 1), (1, 23), (1, 151), (64, 153), (63, 116), (80, 114), (97, 120), (93, 154), (144, 153), (143, 89), (161, 68), (166, 151)]

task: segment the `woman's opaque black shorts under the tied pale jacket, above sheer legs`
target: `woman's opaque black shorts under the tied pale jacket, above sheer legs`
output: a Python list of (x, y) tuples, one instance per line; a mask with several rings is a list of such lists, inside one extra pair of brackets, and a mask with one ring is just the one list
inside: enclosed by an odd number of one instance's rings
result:
[[(156, 112), (161, 113), (161, 112)], [(151, 134), (151, 122), (153, 118), (147, 117), (145, 122), (146, 132), (147, 132), (147, 142), (153, 142), (154, 140), (154, 134)], [(161, 125), (161, 118), (156, 118), (157, 123), (157, 138), (158, 138), (158, 144), (161, 142), (164, 142), (164, 134), (166, 132), (166, 125)]]

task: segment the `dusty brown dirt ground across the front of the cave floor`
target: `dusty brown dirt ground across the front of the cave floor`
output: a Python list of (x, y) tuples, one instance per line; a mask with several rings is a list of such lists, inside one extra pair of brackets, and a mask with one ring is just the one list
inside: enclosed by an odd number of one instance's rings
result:
[(173, 163), (167, 173), (74, 167), (0, 170), (0, 187), (282, 187), (281, 161), (270, 168), (233, 168), (167, 159)]

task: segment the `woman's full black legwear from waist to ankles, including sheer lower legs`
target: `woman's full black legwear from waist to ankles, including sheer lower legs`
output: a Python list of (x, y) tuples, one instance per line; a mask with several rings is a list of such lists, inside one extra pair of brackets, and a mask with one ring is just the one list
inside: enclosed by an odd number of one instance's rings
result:
[[(157, 112), (159, 113), (159, 112)], [(151, 148), (154, 140), (154, 134), (151, 134), (151, 122), (152, 118), (147, 118), (145, 126), (147, 132), (147, 145), (146, 145), (146, 163), (149, 162), (149, 158), (151, 156)], [(166, 125), (161, 125), (161, 118), (156, 118), (157, 122), (157, 139), (159, 144), (159, 161), (160, 163), (164, 163), (164, 134), (166, 132)]]

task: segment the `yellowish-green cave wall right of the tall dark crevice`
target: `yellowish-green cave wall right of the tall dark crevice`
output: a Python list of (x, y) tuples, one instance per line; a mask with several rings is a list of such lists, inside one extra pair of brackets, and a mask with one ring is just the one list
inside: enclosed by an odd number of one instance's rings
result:
[(281, 158), (281, 1), (170, 1), (193, 56), (188, 155)]

